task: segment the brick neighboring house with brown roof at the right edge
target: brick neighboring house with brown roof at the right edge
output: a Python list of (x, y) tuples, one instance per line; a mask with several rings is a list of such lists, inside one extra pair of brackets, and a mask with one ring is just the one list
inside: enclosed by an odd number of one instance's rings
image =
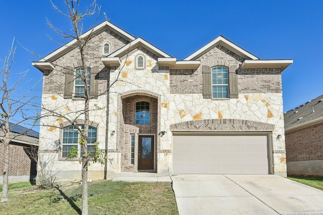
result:
[(284, 114), (287, 173), (323, 175), (323, 95)]

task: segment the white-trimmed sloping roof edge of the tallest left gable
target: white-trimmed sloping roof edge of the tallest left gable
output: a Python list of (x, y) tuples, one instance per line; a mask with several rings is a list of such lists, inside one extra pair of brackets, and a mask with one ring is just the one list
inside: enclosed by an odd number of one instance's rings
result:
[[(122, 30), (121, 28), (117, 27), (116, 25), (112, 24), (109, 21), (104, 21), (104, 22), (98, 24), (97, 26), (95, 26), (94, 28), (86, 31), (85, 33), (83, 33), (81, 35), (81, 38), (87, 37), (91, 33), (101, 32), (101, 31), (104, 31), (104, 30), (109, 29), (109, 28), (112, 29), (113, 31), (115, 31), (116, 33), (122, 35), (123, 37), (125, 37), (129, 41), (133, 41), (135, 39), (135, 37), (133, 37), (132, 35), (130, 35), (126, 31)], [(70, 50), (74, 49), (75, 48), (75, 46), (74, 46), (75, 43), (76, 43), (76, 39), (73, 39), (71, 42), (63, 45), (62, 47), (56, 49), (55, 51), (51, 52), (47, 56), (43, 57), (42, 59), (40, 59), (39, 61), (34, 62), (34, 63), (48, 62), (48, 61), (51, 62), (53, 60), (56, 60), (57, 58), (61, 57), (65, 53), (67, 53)], [(34, 65), (34, 63), (33, 63), (33, 65)]]

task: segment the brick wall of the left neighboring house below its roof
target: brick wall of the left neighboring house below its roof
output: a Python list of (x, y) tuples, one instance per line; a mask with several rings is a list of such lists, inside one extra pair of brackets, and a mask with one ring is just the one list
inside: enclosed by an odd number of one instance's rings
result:
[[(37, 147), (38, 148), (38, 147)], [(0, 144), (0, 152), (4, 152), (5, 147)], [(37, 163), (30, 156), (31, 147), (17, 142), (9, 145), (9, 182), (22, 182), (32, 180), (37, 174)], [(0, 171), (3, 172), (5, 165), (5, 154), (0, 153)], [(0, 183), (3, 182), (2, 176)]]

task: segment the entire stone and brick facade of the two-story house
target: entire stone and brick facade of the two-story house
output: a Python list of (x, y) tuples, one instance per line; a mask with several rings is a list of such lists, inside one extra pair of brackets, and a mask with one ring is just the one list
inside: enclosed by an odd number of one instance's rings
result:
[[(107, 28), (111, 26), (107, 25)], [(252, 68), (249, 68), (249, 63), (241, 68), (245, 60), (258, 58), (230, 45), (225, 39), (207, 46), (189, 60), (178, 61), (141, 38), (126, 36), (122, 31), (119, 33), (104, 30), (91, 39), (86, 49), (87, 66), (94, 67), (95, 74), (98, 71), (94, 82), (98, 93), (110, 87), (109, 94), (91, 99), (89, 117), (98, 128), (99, 147), (113, 159), (105, 167), (91, 165), (90, 171), (142, 171), (138, 170), (140, 135), (154, 137), (154, 165), (153, 169), (149, 166), (147, 172), (168, 175), (173, 171), (175, 157), (173, 132), (263, 132), (271, 138), (268, 139), (268, 144), (272, 145), (268, 153), (273, 154), (271, 172), (285, 176), (285, 142), (276, 139), (284, 133), (282, 69), (272, 68), (280, 66), (279, 63), (262, 62), (263, 67), (260, 68), (253, 68), (257, 65), (252, 63)], [(133, 42), (130, 43), (130, 40)], [(111, 55), (102, 55), (104, 42), (110, 43)], [(56, 68), (43, 71), (42, 105), (62, 107), (62, 115), (75, 117), (84, 107), (83, 100), (62, 96), (65, 82), (70, 80), (65, 79), (62, 66), (71, 69), (82, 66), (78, 50), (71, 49), (57, 53), (57, 58), (51, 56), (50, 61), (57, 65)], [(140, 68), (136, 66), (136, 57), (139, 55), (144, 57), (144, 66)], [(203, 91), (211, 89), (205, 83), (203, 89), (203, 76), (206, 74), (203, 66), (229, 68), (230, 98), (203, 97)], [(71, 92), (73, 88), (68, 89)], [(150, 103), (150, 124), (135, 124), (135, 103), (139, 101)], [(82, 119), (83, 116), (78, 117)], [(51, 171), (64, 179), (70, 177), (79, 170), (79, 164), (77, 161), (60, 159), (60, 128), (68, 125), (67, 120), (49, 116), (42, 118), (41, 124), (46, 126), (40, 127), (39, 146), (49, 161)], [(160, 135), (161, 132), (164, 135)], [(131, 135), (135, 135), (134, 164), (131, 164)]]

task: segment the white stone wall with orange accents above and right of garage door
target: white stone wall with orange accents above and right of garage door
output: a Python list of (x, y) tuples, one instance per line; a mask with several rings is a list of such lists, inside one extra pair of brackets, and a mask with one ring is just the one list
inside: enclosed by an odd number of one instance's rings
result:
[[(245, 131), (271, 131), (273, 146), (274, 173), (286, 176), (286, 151), (284, 138), (283, 101), (281, 93), (248, 93), (239, 94), (238, 99), (212, 100), (203, 99), (201, 94), (171, 94), (170, 97), (170, 122), (171, 128), (180, 123), (190, 121), (218, 120), (218, 124), (191, 125), (190, 131), (220, 131), (220, 132), (245, 132)], [(230, 120), (238, 120), (233, 125)], [(253, 121), (252, 124), (241, 124), (241, 120)], [(275, 125), (274, 128), (255, 129), (264, 125)], [(214, 127), (215, 126), (215, 127)], [(199, 128), (205, 128), (199, 130)], [(218, 130), (216, 128), (219, 128)], [(176, 129), (175, 129), (176, 130)], [(184, 131), (184, 130), (183, 130)], [(281, 139), (277, 139), (278, 135)]]

